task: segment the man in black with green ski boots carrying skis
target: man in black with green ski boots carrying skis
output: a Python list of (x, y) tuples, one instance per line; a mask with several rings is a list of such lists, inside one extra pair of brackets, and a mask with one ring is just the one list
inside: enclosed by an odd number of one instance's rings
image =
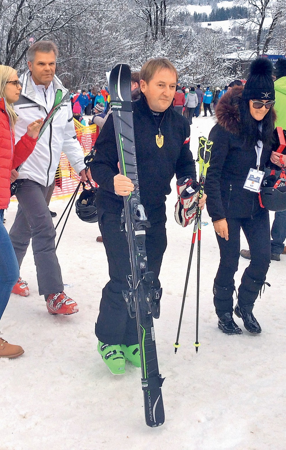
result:
[[(178, 74), (165, 58), (149, 59), (140, 72), (141, 99), (133, 104), (134, 135), (140, 183), (140, 198), (150, 228), (146, 229), (148, 269), (158, 280), (166, 248), (165, 199), (176, 174), (196, 178), (195, 163), (189, 149), (188, 120), (170, 108)], [(131, 319), (122, 295), (128, 289), (126, 275), (130, 260), (125, 232), (121, 231), (123, 199), (134, 190), (131, 180), (119, 174), (116, 137), (112, 114), (101, 131), (91, 164), (97, 195), (98, 224), (107, 252), (110, 281), (103, 288), (96, 324), (98, 352), (113, 374), (125, 372), (125, 360), (139, 367), (140, 351), (137, 323)], [(203, 207), (206, 195), (200, 201)]]

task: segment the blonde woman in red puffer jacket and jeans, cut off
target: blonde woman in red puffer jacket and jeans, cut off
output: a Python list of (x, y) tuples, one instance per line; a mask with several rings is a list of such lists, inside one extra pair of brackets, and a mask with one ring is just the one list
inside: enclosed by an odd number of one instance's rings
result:
[[(32, 122), (27, 127), (27, 133), (15, 145), (17, 114), (13, 110), (13, 103), (19, 99), (21, 89), (16, 70), (0, 65), (0, 319), (19, 277), (15, 252), (3, 225), (4, 209), (8, 207), (10, 199), (11, 170), (16, 169), (32, 153), (43, 124), (42, 119)], [(11, 345), (0, 338), (0, 358), (16, 358), (23, 353), (22, 347)]]

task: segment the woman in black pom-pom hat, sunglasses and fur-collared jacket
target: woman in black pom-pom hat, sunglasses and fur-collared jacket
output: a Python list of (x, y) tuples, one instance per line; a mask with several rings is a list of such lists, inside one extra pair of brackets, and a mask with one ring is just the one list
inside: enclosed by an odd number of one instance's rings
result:
[(251, 262), (242, 275), (234, 312), (250, 333), (261, 332), (252, 310), (264, 286), (271, 257), (269, 215), (259, 205), (258, 192), (273, 139), (272, 69), (267, 58), (253, 61), (245, 88), (234, 86), (218, 103), (217, 124), (209, 136), (214, 144), (205, 184), (206, 206), (221, 258), (214, 304), (219, 329), (226, 334), (242, 333), (232, 319), (233, 276), (238, 268), (241, 229), (249, 243)]

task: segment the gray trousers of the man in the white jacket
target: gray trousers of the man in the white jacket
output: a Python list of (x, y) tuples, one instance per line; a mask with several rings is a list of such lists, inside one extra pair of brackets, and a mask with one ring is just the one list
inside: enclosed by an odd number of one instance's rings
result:
[(49, 187), (32, 180), (22, 181), (16, 193), (18, 211), (9, 233), (19, 267), (32, 239), (39, 294), (62, 292), (63, 280), (54, 243), (56, 231), (46, 203)]

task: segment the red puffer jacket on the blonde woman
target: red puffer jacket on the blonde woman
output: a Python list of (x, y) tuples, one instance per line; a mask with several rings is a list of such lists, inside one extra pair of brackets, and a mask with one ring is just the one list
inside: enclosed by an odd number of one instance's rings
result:
[(32, 153), (37, 139), (27, 133), (15, 145), (4, 99), (0, 99), (0, 209), (6, 209), (10, 201), (10, 175)]

